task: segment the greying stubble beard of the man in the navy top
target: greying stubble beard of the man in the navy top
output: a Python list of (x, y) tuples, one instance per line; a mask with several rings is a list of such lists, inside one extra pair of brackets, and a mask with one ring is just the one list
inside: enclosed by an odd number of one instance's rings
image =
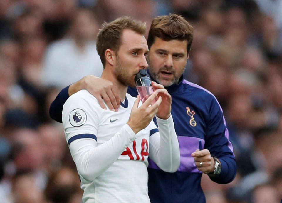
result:
[[(158, 70), (157, 73), (154, 72), (154, 71), (153, 71), (153, 68), (152, 68), (152, 65), (151, 65), (151, 63), (150, 63), (149, 57), (147, 58), (147, 63), (148, 63), (148, 65), (149, 65), (149, 68), (148, 68), (148, 69), (149, 69), (149, 71), (150, 71), (150, 75), (151, 75), (152, 79), (155, 80), (157, 83), (163, 85), (164, 87), (169, 87), (169, 86), (172, 86), (173, 84), (177, 84), (178, 81), (179, 81), (179, 79), (180, 79), (180, 77), (181, 77), (182, 74), (184, 73), (184, 70), (185, 70), (185, 67), (186, 67), (186, 64), (187, 64), (187, 63), (185, 64), (182, 73), (181, 73), (179, 76), (176, 76), (176, 75), (175, 75), (175, 74), (176, 74), (176, 73), (175, 73), (175, 70), (172, 69), (172, 68), (169, 68), (169, 67), (167, 67), (167, 66), (161, 67), (161, 68)], [(160, 75), (159, 75), (159, 74), (160, 74), (161, 71), (169, 71), (169, 72), (171, 72), (171, 73), (173, 74), (174, 78), (172, 79), (172, 81), (170, 81), (169, 84), (164, 84), (164, 83), (162, 82), (163, 80), (160, 79)]]

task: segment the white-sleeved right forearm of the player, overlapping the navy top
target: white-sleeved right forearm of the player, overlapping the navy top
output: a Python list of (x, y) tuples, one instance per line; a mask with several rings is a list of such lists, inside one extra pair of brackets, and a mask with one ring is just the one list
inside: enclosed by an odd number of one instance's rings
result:
[(175, 172), (180, 164), (179, 143), (172, 116), (167, 120), (157, 118), (159, 135), (150, 137), (150, 157), (166, 172)]

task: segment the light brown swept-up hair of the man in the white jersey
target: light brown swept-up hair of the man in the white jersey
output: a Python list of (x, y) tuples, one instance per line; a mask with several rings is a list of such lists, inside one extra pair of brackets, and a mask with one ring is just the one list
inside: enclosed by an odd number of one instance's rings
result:
[(97, 35), (97, 51), (105, 66), (105, 51), (112, 49), (118, 51), (121, 45), (122, 31), (125, 29), (133, 30), (139, 34), (146, 32), (146, 23), (132, 19), (131, 17), (120, 17), (110, 23), (104, 23)]

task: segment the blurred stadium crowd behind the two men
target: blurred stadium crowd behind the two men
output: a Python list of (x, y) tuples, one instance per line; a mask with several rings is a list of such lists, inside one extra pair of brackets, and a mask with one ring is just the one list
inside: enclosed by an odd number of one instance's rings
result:
[(236, 155), (232, 183), (203, 175), (207, 203), (280, 202), (280, 0), (0, 0), (0, 202), (81, 202), (50, 103), (81, 77), (100, 76), (95, 36), (104, 21), (126, 15), (149, 27), (169, 13), (194, 26), (185, 79), (217, 97)]

